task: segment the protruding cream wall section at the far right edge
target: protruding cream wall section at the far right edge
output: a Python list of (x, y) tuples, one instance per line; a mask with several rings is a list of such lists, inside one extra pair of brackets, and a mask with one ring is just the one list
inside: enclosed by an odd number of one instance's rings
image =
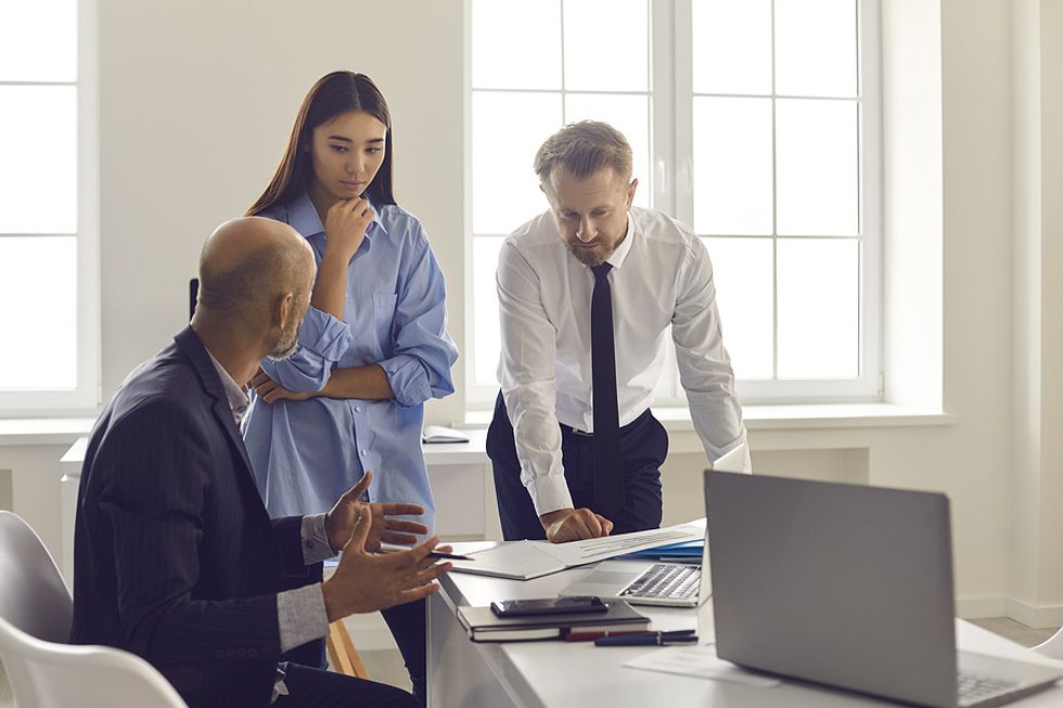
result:
[[(1015, 3), (1012, 614), (1063, 621), (1063, 4)], [(1048, 609), (1046, 609), (1048, 608)]]

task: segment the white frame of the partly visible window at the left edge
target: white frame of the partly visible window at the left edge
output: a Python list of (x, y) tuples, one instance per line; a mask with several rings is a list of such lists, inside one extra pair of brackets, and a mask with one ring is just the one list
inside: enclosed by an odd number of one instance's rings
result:
[(0, 390), (0, 417), (95, 415), (102, 391), (100, 361), (100, 155), (97, 0), (77, 2), (77, 76), (74, 81), (0, 81), (2, 86), (74, 86), (77, 89), (77, 228), (73, 234), (5, 233), (0, 239), (71, 236), (77, 248), (77, 386)]

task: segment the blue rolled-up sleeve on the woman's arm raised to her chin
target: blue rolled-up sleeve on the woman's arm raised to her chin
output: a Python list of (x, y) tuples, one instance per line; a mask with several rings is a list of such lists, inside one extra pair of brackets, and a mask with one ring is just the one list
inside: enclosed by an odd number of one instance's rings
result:
[(319, 391), (350, 346), (350, 326), (316, 307), (299, 326), (299, 348), (283, 361), (262, 359), (266, 375), (292, 391)]

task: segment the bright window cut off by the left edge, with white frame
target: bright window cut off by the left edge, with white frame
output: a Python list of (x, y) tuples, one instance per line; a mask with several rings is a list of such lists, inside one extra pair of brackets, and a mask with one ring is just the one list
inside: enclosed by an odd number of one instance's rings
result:
[(0, 5), (0, 414), (94, 411), (94, 8)]

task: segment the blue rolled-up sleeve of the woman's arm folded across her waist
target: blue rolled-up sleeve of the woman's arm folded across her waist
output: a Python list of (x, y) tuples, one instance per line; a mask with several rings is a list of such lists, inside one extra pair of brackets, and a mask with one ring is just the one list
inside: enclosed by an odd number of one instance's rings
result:
[(380, 362), (395, 401), (420, 406), (454, 391), (450, 368), (458, 348), (447, 333), (447, 288), (443, 271), (420, 226), (395, 307), (393, 355)]

